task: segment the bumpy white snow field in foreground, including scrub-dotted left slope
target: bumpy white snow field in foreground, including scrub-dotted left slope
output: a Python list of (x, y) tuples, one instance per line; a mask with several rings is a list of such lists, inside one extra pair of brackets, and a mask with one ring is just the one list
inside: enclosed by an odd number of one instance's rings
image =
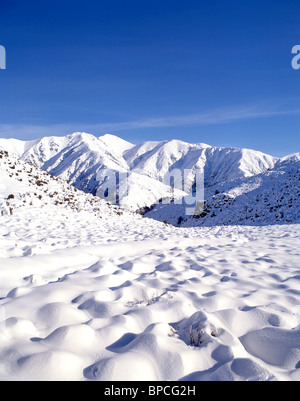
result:
[(176, 228), (4, 151), (0, 177), (0, 380), (300, 379), (299, 224)]

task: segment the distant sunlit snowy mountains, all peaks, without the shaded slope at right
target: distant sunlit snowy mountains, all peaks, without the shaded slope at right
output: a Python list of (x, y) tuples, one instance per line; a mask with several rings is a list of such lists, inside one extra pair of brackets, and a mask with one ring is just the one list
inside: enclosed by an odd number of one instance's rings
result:
[[(68, 180), (94, 195), (115, 190), (123, 207), (145, 210), (160, 199), (180, 198), (192, 190), (196, 171), (203, 171), (205, 186), (251, 177), (272, 169), (277, 159), (258, 151), (216, 148), (179, 140), (134, 145), (113, 135), (96, 138), (86, 133), (48, 137), (36, 141), (0, 140), (0, 146), (21, 160)], [(126, 177), (127, 191), (119, 196), (116, 182), (107, 183), (107, 171)], [(170, 172), (179, 171), (175, 190)], [(188, 171), (183, 183), (184, 171)]]

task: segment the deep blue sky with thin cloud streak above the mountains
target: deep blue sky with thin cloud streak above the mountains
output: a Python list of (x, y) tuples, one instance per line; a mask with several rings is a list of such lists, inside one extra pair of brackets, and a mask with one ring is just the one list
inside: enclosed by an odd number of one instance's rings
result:
[(0, 137), (300, 151), (299, 0), (1, 0)]

